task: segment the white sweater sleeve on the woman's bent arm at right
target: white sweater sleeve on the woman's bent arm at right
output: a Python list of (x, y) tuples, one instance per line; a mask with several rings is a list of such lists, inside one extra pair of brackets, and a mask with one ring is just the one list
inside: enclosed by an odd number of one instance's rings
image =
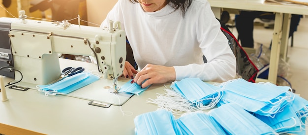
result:
[[(203, 5), (204, 6), (204, 5)], [(198, 12), (196, 35), (207, 63), (174, 66), (176, 80), (200, 78), (203, 81), (224, 82), (236, 75), (236, 58), (228, 45), (226, 36), (220, 30), (210, 4), (206, 2)]]

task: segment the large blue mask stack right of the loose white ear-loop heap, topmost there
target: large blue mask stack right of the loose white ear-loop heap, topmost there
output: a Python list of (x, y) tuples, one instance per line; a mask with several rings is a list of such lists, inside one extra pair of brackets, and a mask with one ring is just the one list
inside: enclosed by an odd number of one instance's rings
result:
[[(294, 100), (290, 87), (279, 87), (271, 83), (250, 83), (235, 79), (221, 83), (224, 89), (221, 103), (237, 103), (249, 112), (274, 117), (284, 106)], [(253, 105), (253, 106), (251, 106)]]

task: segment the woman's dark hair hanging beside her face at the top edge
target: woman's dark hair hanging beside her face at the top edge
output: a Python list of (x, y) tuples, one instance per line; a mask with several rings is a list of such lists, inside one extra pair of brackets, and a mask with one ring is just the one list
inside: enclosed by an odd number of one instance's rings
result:
[[(132, 3), (138, 3), (138, 0), (129, 0)], [(166, 0), (167, 3), (172, 3), (172, 7), (174, 10), (177, 10), (180, 8), (183, 17), (185, 16), (185, 13), (188, 9), (188, 7), (191, 5), (192, 0)]]

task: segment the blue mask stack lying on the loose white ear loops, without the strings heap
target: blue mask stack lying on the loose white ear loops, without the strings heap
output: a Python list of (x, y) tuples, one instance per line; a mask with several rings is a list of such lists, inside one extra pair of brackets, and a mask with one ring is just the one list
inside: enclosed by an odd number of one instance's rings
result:
[(205, 83), (199, 78), (185, 78), (174, 82), (170, 87), (191, 103), (195, 103), (201, 110), (215, 107), (223, 93), (221, 88)]

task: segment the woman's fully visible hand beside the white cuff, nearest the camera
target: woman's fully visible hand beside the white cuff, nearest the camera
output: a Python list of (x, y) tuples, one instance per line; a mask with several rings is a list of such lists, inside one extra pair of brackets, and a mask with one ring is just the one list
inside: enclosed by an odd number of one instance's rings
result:
[(148, 64), (136, 74), (133, 81), (136, 82), (138, 85), (141, 85), (141, 88), (146, 88), (151, 84), (166, 83), (169, 81), (175, 81), (175, 79), (176, 74), (174, 67)]

